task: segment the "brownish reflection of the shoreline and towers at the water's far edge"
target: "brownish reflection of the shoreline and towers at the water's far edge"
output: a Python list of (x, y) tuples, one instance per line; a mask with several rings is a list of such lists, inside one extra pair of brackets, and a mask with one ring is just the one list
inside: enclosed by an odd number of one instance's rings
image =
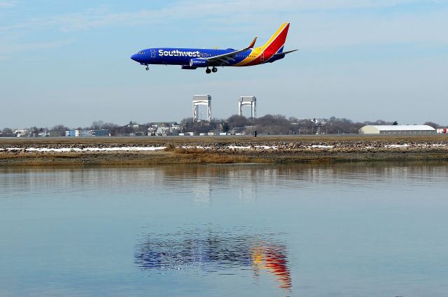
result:
[[(126, 187), (187, 186), (193, 189), (197, 202), (210, 201), (212, 191), (221, 187), (235, 187), (240, 198), (253, 200), (258, 188), (264, 184), (287, 185), (306, 188), (313, 184), (358, 184), (360, 180), (372, 180), (381, 176), (387, 184), (400, 184), (400, 180), (442, 181), (448, 175), (444, 163), (356, 163), (356, 164), (302, 164), (281, 166), (155, 166), (104, 168), (30, 168), (0, 167), (0, 187), (13, 187), (20, 191), (31, 191), (43, 185), (58, 189), (73, 184), (83, 188), (99, 186), (124, 191)], [(18, 180), (17, 175), (24, 175)], [(230, 182), (230, 183), (229, 183)], [(101, 183), (101, 184), (99, 184)], [(12, 186), (11, 186), (12, 185)], [(6, 189), (8, 190), (8, 189)]]

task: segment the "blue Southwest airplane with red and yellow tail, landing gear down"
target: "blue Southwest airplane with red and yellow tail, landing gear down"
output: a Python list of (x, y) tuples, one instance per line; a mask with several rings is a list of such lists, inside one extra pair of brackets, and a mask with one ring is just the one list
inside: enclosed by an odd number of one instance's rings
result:
[[(201, 49), (201, 48), (148, 48), (132, 55), (131, 59), (146, 66), (150, 64), (180, 65), (181, 69), (196, 69), (207, 67), (206, 73), (218, 71), (217, 66), (253, 66), (283, 59), (286, 54), (295, 52), (290, 50), (283, 52), (286, 35), (288, 35), (289, 23), (283, 23), (281, 27), (269, 38), (269, 41), (260, 48), (253, 48), (257, 38), (242, 50)], [(212, 67), (211, 69), (209, 67)]]

